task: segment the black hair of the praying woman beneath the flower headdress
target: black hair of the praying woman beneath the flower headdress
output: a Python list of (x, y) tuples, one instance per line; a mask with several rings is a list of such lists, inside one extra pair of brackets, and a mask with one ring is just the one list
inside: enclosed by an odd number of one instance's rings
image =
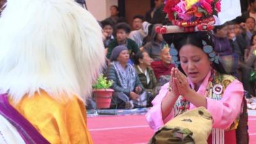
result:
[[(165, 34), (163, 35), (164, 40), (168, 42), (168, 44), (174, 44), (175, 49), (178, 51), (178, 58), (179, 58), (179, 51), (184, 45), (194, 45), (196, 47), (199, 47), (200, 49), (203, 49), (204, 45), (202, 44), (202, 41), (204, 40), (207, 45), (211, 45), (214, 47), (214, 43), (212, 41), (212, 35), (210, 32), (207, 31), (198, 31), (195, 33), (172, 33), (172, 34)], [(202, 50), (203, 51), (203, 50)], [(209, 57), (209, 56), (208, 56)], [(212, 62), (212, 67), (214, 70), (220, 72), (221, 74), (227, 74), (223, 66), (221, 65), (220, 61), (218, 63)], [(179, 66), (179, 70), (184, 73), (182, 68)]]

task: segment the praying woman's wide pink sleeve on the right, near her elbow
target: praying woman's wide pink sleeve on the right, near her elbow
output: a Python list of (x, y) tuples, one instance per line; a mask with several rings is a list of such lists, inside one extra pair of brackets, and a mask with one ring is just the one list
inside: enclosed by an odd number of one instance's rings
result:
[(230, 83), (220, 101), (207, 98), (207, 109), (212, 114), (214, 128), (227, 129), (241, 111), (244, 95), (243, 84), (237, 80)]

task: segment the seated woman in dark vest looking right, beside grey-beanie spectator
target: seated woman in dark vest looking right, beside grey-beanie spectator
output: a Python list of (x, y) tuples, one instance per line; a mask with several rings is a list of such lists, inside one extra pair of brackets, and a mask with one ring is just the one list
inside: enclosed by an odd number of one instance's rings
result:
[(152, 61), (152, 58), (150, 58), (150, 56), (148, 56), (148, 53), (145, 51), (137, 52), (134, 58), (134, 68), (147, 92), (148, 99), (150, 99), (148, 100), (148, 103), (157, 94), (154, 91), (157, 87), (156, 76), (153, 69), (150, 67)]

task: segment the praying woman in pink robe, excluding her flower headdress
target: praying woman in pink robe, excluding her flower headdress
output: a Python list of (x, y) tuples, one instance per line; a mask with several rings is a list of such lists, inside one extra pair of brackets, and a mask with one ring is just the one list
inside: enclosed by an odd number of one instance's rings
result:
[[(170, 83), (164, 84), (159, 95), (152, 101), (153, 107), (146, 115), (150, 127), (157, 131), (180, 113), (204, 106), (214, 120), (212, 128), (223, 131), (224, 135), (223, 140), (216, 140), (221, 138), (210, 135), (208, 143), (236, 144), (237, 117), (241, 113), (244, 95), (243, 84), (225, 75), (218, 57), (210, 56), (214, 51), (206, 47), (213, 45), (211, 36), (207, 32), (197, 32), (182, 36), (168, 34), (165, 39), (169, 43), (173, 42), (180, 67), (172, 69)], [(171, 55), (175, 56), (175, 52)], [(225, 78), (217, 81), (218, 77)], [(180, 98), (187, 102), (187, 106), (179, 105)]]

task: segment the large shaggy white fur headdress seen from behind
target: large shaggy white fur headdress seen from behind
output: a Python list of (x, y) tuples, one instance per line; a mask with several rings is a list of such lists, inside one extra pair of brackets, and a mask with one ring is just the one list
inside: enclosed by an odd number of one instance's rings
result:
[(90, 95), (104, 64), (102, 30), (74, 0), (8, 0), (0, 19), (0, 90)]

